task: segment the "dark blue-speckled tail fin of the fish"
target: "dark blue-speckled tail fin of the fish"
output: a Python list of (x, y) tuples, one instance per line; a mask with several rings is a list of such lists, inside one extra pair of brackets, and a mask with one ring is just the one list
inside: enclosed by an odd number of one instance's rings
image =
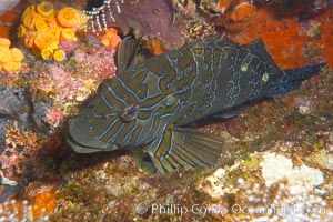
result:
[(281, 97), (287, 92), (299, 89), (304, 80), (317, 74), (323, 67), (325, 67), (325, 62), (303, 68), (283, 70), (282, 77), (270, 81), (269, 97)]

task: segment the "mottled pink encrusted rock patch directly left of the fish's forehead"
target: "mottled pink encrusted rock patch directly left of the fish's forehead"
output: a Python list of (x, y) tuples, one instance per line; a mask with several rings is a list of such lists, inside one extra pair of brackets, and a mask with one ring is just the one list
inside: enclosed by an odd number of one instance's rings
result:
[(115, 75), (113, 54), (114, 50), (108, 47), (90, 53), (78, 48), (65, 64), (47, 64), (44, 71), (38, 74), (39, 78), (32, 81), (34, 89), (53, 98), (47, 117), (53, 127), (70, 115), (68, 109), (87, 100), (103, 79)]

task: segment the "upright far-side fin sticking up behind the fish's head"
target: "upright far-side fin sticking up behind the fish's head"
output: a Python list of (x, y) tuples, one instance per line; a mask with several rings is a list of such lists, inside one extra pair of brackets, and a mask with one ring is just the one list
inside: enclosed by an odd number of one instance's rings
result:
[(141, 38), (128, 36), (123, 38), (117, 51), (117, 73), (123, 72), (134, 63), (135, 56), (140, 47)]

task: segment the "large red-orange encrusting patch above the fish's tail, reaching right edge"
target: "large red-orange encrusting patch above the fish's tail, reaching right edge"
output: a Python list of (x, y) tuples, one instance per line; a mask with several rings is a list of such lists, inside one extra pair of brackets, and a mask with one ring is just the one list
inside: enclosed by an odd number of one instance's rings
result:
[(245, 22), (223, 24), (240, 43), (262, 38), (265, 49), (283, 69), (305, 65), (305, 54), (315, 50), (322, 52), (322, 58), (316, 60), (326, 60), (327, 65), (333, 67), (332, 12), (331, 7), (317, 17), (300, 22), (296, 17), (278, 19), (268, 9), (260, 8)]

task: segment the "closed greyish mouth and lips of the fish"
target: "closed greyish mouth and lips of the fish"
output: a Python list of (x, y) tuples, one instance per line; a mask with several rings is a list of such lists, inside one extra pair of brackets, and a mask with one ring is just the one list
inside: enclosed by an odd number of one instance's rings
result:
[(117, 144), (103, 142), (82, 132), (75, 120), (70, 124), (67, 143), (78, 153), (119, 150), (119, 145)]

